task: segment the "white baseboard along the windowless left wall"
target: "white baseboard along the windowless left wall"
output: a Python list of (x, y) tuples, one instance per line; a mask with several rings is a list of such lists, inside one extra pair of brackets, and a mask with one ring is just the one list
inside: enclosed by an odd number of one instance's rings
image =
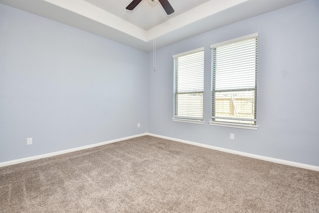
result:
[(26, 158), (20, 158), (20, 159), (11, 160), (11, 161), (0, 162), (0, 167), (9, 166), (9, 165), (18, 164), (18, 163), (23, 163), (23, 162), (27, 162), (27, 161), (31, 161), (31, 160), (37, 160), (37, 159), (41, 159), (41, 158), (52, 157), (55, 155), (61, 155), (61, 154), (75, 152), (75, 151), (79, 151), (79, 150), (83, 150), (83, 149), (89, 149), (89, 148), (93, 148), (96, 146), (102, 146), (105, 144), (114, 143), (114, 142), (127, 140), (127, 139), (131, 139), (131, 138), (135, 138), (135, 137), (140, 137), (140, 136), (144, 136), (144, 135), (147, 135), (147, 133), (137, 134), (137, 135), (123, 137), (123, 138), (114, 139), (114, 140), (109, 140), (109, 141), (105, 141), (105, 142), (101, 142), (101, 143), (94, 143), (94, 144), (80, 146), (80, 147), (76, 147), (76, 148), (72, 148), (72, 149), (65, 149), (65, 150), (61, 150), (61, 151), (57, 151), (57, 152), (50, 152), (50, 153), (42, 154), (42, 155), (35, 155), (35, 156), (31, 156), (31, 157), (26, 157)]

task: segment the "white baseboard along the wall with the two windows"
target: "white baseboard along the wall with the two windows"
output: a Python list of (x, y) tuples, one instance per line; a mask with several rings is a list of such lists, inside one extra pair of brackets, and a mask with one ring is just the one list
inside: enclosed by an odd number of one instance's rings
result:
[(221, 148), (221, 147), (217, 147), (217, 146), (211, 146), (211, 145), (207, 145), (207, 144), (196, 143), (196, 142), (192, 142), (192, 141), (181, 140), (181, 139), (177, 139), (177, 138), (166, 137), (166, 136), (152, 134), (152, 133), (148, 133), (148, 135), (154, 136), (154, 137), (160, 137), (163, 139), (173, 140), (173, 141), (177, 141), (177, 142), (181, 142), (181, 143), (187, 143), (187, 144), (191, 144), (191, 145), (195, 145), (195, 146), (201, 146), (201, 147), (214, 149), (214, 150), (218, 150), (218, 151), (222, 151), (222, 152), (228, 152), (228, 153), (232, 153), (232, 154), (237, 154), (237, 155), (256, 158), (256, 159), (260, 159), (260, 160), (270, 161), (273, 163), (279, 163), (279, 164), (284, 164), (284, 165), (288, 165), (288, 166), (295, 166), (295, 167), (299, 167), (299, 168), (319, 171), (319, 166), (313, 166), (313, 165), (309, 165), (309, 164), (303, 164), (303, 163), (297, 163), (297, 162), (293, 162), (293, 161), (281, 160), (281, 159), (277, 159), (277, 158), (265, 157), (262, 155), (255, 155), (255, 154), (250, 154), (247, 152), (240, 152), (240, 151), (236, 151), (236, 150), (225, 149), (225, 148)]

